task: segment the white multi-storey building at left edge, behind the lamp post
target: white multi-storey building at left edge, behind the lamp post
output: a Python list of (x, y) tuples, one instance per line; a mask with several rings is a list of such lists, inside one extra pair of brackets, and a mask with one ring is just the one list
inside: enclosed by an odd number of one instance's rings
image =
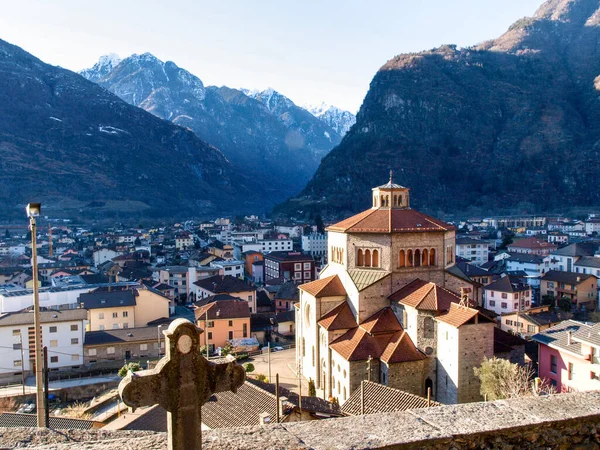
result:
[[(85, 309), (40, 313), (42, 347), (48, 347), (50, 370), (77, 367), (84, 363), (83, 341), (86, 317)], [(33, 312), (1, 316), (0, 340), (6, 347), (0, 355), (0, 376), (20, 375), (22, 370), (25, 372), (33, 370), (35, 358)]]

